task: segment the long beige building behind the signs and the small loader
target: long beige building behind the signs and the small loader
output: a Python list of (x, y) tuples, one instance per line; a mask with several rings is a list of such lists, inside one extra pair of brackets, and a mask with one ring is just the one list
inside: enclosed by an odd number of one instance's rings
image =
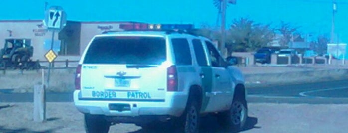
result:
[[(67, 21), (66, 26), (54, 36), (56, 61), (79, 60), (93, 36), (103, 31), (121, 31), (120, 24), (137, 22), (77, 22)], [(0, 20), (0, 48), (6, 39), (25, 39), (34, 47), (32, 60), (45, 61), (44, 55), (50, 49), (52, 32), (43, 25), (42, 20)]]

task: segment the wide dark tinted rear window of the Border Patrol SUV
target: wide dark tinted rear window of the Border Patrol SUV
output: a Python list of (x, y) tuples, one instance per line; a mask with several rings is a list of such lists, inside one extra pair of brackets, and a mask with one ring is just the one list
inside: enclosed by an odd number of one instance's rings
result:
[(163, 37), (113, 36), (95, 38), (84, 64), (160, 65), (166, 61)]

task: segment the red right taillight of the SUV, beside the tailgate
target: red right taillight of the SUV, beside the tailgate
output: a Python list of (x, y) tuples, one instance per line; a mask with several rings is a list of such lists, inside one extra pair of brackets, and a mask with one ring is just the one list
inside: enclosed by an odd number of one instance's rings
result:
[(178, 91), (178, 74), (175, 66), (167, 68), (167, 91)]

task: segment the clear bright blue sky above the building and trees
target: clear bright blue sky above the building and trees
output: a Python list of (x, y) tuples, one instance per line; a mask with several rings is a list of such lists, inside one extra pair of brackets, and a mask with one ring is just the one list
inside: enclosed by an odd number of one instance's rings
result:
[[(348, 0), (336, 0), (335, 33), (348, 43)], [(216, 26), (218, 10), (213, 0), (4, 0), (0, 20), (44, 19), (45, 2), (61, 6), (73, 21), (136, 21)], [(330, 37), (332, 0), (237, 0), (229, 5), (226, 25), (247, 17), (256, 23), (279, 26), (281, 21), (300, 27), (302, 34)], [(312, 38), (313, 39), (313, 38)]]

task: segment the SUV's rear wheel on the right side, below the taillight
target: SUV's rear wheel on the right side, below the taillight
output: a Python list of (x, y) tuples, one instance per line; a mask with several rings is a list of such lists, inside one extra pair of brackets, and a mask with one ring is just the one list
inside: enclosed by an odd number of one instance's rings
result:
[(198, 133), (200, 125), (200, 108), (198, 102), (195, 99), (189, 99), (186, 111), (184, 113), (184, 132), (185, 133)]

